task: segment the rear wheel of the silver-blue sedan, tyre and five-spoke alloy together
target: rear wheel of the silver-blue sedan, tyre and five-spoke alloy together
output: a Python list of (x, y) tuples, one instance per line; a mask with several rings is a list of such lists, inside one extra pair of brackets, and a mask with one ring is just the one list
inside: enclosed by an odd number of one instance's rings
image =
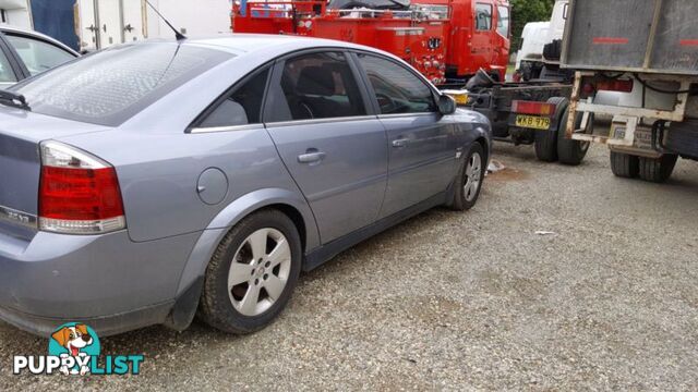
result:
[(285, 213), (268, 209), (244, 218), (224, 237), (206, 268), (200, 318), (229, 333), (263, 329), (290, 299), (301, 258), (300, 235)]

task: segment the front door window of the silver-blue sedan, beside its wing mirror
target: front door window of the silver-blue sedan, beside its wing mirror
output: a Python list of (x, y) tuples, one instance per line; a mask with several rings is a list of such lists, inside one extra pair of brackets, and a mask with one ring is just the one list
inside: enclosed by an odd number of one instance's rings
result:
[(371, 54), (359, 54), (382, 114), (436, 111), (432, 89), (405, 66)]

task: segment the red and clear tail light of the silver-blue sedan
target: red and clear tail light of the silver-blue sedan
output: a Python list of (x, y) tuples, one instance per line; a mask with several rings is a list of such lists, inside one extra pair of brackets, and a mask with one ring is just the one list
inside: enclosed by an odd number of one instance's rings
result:
[(39, 229), (64, 234), (103, 234), (125, 229), (113, 167), (74, 147), (41, 144)]

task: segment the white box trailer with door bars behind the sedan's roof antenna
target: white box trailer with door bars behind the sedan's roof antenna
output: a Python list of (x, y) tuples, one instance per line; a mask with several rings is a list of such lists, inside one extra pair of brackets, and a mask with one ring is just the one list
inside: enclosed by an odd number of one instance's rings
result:
[[(182, 34), (229, 33), (230, 0), (151, 0)], [(145, 0), (76, 0), (75, 26), (81, 50), (98, 50), (146, 38), (172, 37), (172, 30)]]

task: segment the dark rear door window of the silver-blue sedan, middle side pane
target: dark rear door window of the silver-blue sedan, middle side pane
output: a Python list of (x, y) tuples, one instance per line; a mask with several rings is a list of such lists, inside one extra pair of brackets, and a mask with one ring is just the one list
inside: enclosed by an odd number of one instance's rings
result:
[(366, 114), (359, 85), (341, 52), (287, 60), (280, 86), (274, 87), (269, 122)]

